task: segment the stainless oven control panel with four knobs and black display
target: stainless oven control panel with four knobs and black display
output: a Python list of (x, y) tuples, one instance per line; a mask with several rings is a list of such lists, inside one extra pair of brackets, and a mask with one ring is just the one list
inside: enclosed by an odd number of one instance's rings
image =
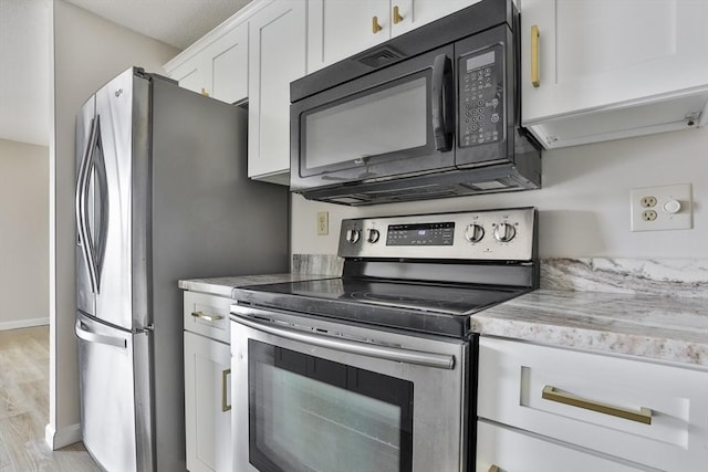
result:
[(534, 208), (342, 221), (342, 258), (530, 261), (535, 255)]

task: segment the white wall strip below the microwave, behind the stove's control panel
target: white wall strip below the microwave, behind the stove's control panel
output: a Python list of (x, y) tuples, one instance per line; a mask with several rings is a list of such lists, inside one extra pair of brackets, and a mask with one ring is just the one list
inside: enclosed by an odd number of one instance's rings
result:
[[(693, 183), (694, 229), (629, 231), (629, 189)], [(352, 209), (293, 198), (293, 253), (336, 253), (342, 218), (539, 209), (539, 252), (551, 256), (708, 258), (708, 128), (544, 151), (541, 190)], [(316, 212), (330, 212), (330, 235)]]

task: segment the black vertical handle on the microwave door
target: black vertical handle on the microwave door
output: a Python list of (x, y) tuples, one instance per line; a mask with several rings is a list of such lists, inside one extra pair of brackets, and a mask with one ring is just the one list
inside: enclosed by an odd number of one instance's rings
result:
[(433, 138), (437, 150), (450, 150), (452, 146), (452, 63), (447, 54), (439, 54), (433, 63)]

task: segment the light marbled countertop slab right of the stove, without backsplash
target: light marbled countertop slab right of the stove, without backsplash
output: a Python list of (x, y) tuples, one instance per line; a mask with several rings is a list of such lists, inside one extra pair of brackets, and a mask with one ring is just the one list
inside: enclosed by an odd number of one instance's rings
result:
[(708, 298), (538, 290), (476, 313), (471, 328), (708, 369)]

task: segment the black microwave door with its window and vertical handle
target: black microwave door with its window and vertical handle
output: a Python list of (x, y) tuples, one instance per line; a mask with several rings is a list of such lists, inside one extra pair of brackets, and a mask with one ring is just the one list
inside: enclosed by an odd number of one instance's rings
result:
[(455, 167), (452, 45), (291, 105), (292, 190)]

